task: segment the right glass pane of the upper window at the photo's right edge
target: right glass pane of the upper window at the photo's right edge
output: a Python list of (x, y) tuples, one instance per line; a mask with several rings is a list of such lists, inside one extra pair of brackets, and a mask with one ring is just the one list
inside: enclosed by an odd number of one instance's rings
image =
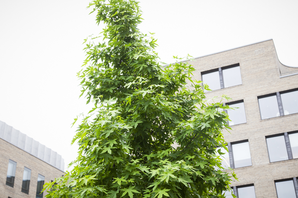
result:
[(298, 113), (298, 91), (280, 94), (285, 115)]

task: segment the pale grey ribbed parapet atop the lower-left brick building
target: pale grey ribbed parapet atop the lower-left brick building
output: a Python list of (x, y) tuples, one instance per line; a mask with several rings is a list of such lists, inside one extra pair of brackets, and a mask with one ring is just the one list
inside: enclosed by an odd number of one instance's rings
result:
[(64, 172), (64, 159), (61, 155), (2, 121), (0, 138)]

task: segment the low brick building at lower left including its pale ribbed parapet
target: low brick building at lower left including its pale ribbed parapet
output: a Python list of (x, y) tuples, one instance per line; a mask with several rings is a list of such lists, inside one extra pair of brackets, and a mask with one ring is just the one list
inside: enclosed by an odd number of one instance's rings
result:
[(1, 198), (42, 198), (44, 183), (63, 173), (58, 153), (0, 121)]

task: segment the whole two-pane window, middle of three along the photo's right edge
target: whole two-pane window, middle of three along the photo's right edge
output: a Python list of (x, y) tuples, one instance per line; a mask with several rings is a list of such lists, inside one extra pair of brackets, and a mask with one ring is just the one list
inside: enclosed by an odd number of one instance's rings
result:
[(266, 136), (270, 162), (298, 158), (298, 133)]

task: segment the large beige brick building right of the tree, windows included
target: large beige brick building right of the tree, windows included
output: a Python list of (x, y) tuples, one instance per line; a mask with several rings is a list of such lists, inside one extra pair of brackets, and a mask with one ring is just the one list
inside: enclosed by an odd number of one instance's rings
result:
[[(272, 39), (195, 58), (207, 99), (232, 98), (223, 164), (238, 198), (298, 198), (298, 68), (280, 63)], [(221, 149), (222, 151), (223, 149)], [(226, 152), (226, 151), (225, 151)], [(227, 196), (227, 197), (232, 197)]]

